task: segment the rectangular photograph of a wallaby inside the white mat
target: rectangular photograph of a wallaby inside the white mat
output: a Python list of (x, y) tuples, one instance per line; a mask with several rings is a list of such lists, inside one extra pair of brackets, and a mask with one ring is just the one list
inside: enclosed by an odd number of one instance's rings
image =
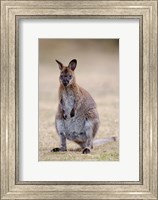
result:
[[(77, 22), (78, 20), (75, 21)], [(105, 55), (107, 55), (107, 57)], [(108, 60), (109, 55), (111, 55), (111, 59)], [(70, 59), (74, 57), (77, 58), (77, 60), (72, 59), (72, 62), (70, 62), (71, 60), (69, 61), (70, 63), (74, 64), (75, 69), (71, 71), (67, 71), (70, 69), (70, 67), (63, 67), (63, 69), (60, 69), (63, 64), (60, 61), (55, 61), (56, 57), (68, 57)], [(119, 159), (119, 143), (116, 141), (118, 140), (119, 132), (118, 58), (119, 39), (39, 39), (39, 161), (115, 161)], [(81, 62), (81, 60), (83, 60), (83, 62)], [(66, 73), (64, 70), (66, 70)], [(58, 78), (59, 76), (60, 80)], [(87, 76), (89, 78), (87, 78)], [(68, 85), (64, 86), (64, 81), (68, 81)], [(86, 93), (85, 89), (81, 89), (79, 82), (80, 85), (86, 87), (90, 94)], [(107, 90), (105, 90), (106, 86)], [(60, 90), (59, 104), (60, 107), (62, 107), (62, 112), (57, 111), (58, 90)], [(81, 91), (84, 91), (84, 93), (82, 94)], [(65, 93), (68, 93), (68, 95)], [(82, 117), (80, 117), (79, 114), (79, 116), (77, 115), (77, 111), (76, 118), (74, 116), (75, 114), (73, 114), (73, 108), (71, 108), (73, 106), (71, 106), (71, 98), (73, 98), (72, 94), (74, 94), (75, 99), (72, 100), (73, 105), (73, 101), (77, 102), (77, 97), (75, 94), (78, 94), (79, 96), (79, 101), (81, 101), (81, 103), (77, 103), (77, 105), (79, 106), (78, 110), (81, 110), (81, 113), (83, 113), (84, 106), (87, 107), (85, 108), (86, 111)], [(92, 94), (93, 97), (90, 97)], [(70, 100), (67, 101), (65, 96), (68, 99), (70, 96)], [(84, 99), (83, 103), (82, 99)], [(86, 100), (87, 105), (85, 105)], [(94, 103), (94, 100), (97, 105), (98, 114), (94, 117), (94, 119), (89, 118), (89, 121), (85, 121), (85, 116), (88, 118), (87, 110), (88, 112), (92, 110), (91, 103)], [(46, 105), (48, 107), (46, 107)], [(50, 113), (50, 116), (48, 116), (48, 113)], [(64, 149), (63, 151), (56, 149), (56, 147), (59, 148), (61, 145), (60, 137), (63, 137), (60, 136), (60, 133), (59, 135), (56, 134), (55, 127), (60, 120), (58, 120), (58, 118), (55, 116), (59, 114), (64, 116), (64, 118), (61, 117), (64, 125), (66, 127), (69, 126), (69, 129), (72, 129), (68, 131), (70, 135), (68, 135), (68, 133), (65, 131), (67, 134), (66, 137), (68, 138), (68, 141), (66, 141), (65, 144), (67, 148), (66, 150), (68, 151), (66, 153), (67, 156), (65, 153), (63, 153)], [(85, 133), (90, 134), (91, 132), (91, 129), (84, 130), (85, 127), (82, 125), (85, 124), (85, 122), (87, 124), (87, 121), (88, 123), (90, 123), (90, 121), (93, 123), (94, 121), (94, 124), (90, 125), (90, 127), (92, 126), (94, 129), (96, 129), (94, 130), (95, 136), (92, 138), (93, 141), (91, 140), (91, 143), (93, 143), (93, 151), (91, 151), (92, 148), (89, 147), (89, 144), (85, 144), (87, 142)], [(59, 127), (59, 129), (60, 128), (61, 127)], [(77, 134), (78, 132), (79, 134)], [(53, 146), (54, 149), (52, 148)], [(108, 151), (108, 153), (107, 148), (111, 149), (111, 151)], [(60, 152), (55, 153), (55, 151)], [(89, 151), (91, 151), (91, 153)], [(83, 155), (86, 153), (89, 155)]]

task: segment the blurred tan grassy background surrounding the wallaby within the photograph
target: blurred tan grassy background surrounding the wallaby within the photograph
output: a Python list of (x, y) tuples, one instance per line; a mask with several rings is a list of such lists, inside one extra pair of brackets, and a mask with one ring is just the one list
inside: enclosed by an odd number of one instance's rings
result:
[(77, 82), (90, 92), (100, 116), (96, 138), (119, 134), (119, 40), (39, 39), (39, 160), (118, 160), (118, 142), (96, 147), (91, 155), (82, 155), (73, 142), (66, 153), (50, 153), (59, 145), (54, 119), (60, 70), (55, 59), (65, 65), (77, 59)]

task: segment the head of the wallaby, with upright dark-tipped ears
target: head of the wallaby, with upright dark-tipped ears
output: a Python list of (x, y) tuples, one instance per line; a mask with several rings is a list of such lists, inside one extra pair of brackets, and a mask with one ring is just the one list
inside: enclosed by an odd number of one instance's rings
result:
[(68, 66), (64, 66), (58, 60), (56, 60), (56, 62), (58, 63), (60, 69), (60, 76), (59, 76), (60, 83), (64, 87), (70, 86), (73, 83), (75, 83), (74, 70), (77, 65), (77, 60), (76, 59), (71, 60)]

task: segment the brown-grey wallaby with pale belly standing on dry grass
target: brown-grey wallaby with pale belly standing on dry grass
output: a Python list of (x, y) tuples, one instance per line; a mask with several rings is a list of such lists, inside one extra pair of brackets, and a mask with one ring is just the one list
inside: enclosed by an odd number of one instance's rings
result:
[(68, 66), (58, 60), (56, 62), (60, 69), (60, 87), (55, 125), (60, 137), (60, 147), (51, 151), (67, 151), (66, 139), (79, 144), (83, 154), (90, 153), (93, 145), (115, 141), (116, 137), (111, 137), (93, 142), (99, 128), (99, 115), (91, 95), (76, 83), (74, 70), (77, 60), (71, 60)]

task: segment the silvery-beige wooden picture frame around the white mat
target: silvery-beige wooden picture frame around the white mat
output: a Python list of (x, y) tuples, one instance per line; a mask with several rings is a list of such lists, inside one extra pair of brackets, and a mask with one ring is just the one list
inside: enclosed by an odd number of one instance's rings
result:
[[(51, 17), (139, 19), (139, 181), (19, 181), (18, 21)], [(157, 0), (1, 0), (0, 82), (1, 199), (157, 199)]]

